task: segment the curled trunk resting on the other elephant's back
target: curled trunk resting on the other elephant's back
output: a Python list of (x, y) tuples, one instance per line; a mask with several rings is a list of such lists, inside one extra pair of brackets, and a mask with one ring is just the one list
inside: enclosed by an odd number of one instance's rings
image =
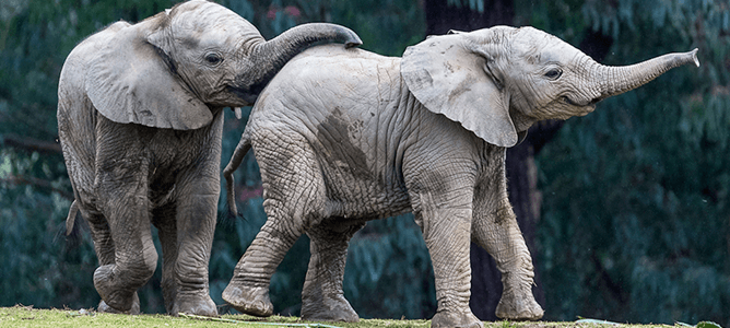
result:
[(363, 44), (352, 30), (329, 23), (309, 23), (287, 30), (269, 42), (254, 46), (250, 52), (250, 67), (245, 77), (239, 77), (239, 95), (254, 104), (263, 87), (273, 79), (284, 65), (308, 47), (325, 43), (343, 43), (345, 47)]

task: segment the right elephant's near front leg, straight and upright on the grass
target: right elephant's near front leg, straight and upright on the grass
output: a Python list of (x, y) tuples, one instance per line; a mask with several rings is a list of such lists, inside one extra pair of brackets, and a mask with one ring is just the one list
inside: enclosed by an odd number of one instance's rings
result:
[[(440, 194), (440, 195), (439, 195)], [(432, 327), (483, 327), (469, 307), (471, 192), (421, 192), (416, 223), (431, 254), (438, 308)]]

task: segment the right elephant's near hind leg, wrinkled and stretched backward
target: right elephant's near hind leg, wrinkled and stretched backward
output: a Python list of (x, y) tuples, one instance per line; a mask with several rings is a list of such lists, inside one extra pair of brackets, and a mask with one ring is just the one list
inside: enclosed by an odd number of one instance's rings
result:
[[(278, 139), (284, 137), (287, 140)], [(268, 220), (236, 265), (223, 300), (239, 312), (270, 316), (271, 276), (304, 227), (322, 218), (317, 211), (325, 192), (316, 157), (304, 138), (264, 131), (254, 136), (254, 149)]]

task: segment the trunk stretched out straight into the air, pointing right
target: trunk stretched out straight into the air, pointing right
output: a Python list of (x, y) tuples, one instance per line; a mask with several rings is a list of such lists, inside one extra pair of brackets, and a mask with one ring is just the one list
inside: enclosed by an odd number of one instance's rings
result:
[(594, 73), (601, 78), (596, 81), (600, 81), (601, 98), (605, 98), (639, 87), (675, 67), (691, 62), (699, 67), (697, 49), (688, 52), (667, 54), (623, 67), (598, 66)]

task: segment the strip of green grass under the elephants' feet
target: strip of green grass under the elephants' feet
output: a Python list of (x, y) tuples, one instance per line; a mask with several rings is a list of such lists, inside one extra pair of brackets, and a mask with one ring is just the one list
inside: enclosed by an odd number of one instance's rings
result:
[[(668, 325), (617, 325), (587, 323), (548, 321), (496, 321), (484, 323), (485, 328), (655, 328), (683, 327)], [(360, 323), (306, 323), (297, 317), (272, 316), (257, 318), (246, 315), (224, 315), (220, 318), (172, 317), (167, 315), (115, 315), (86, 309), (39, 309), (31, 306), (0, 307), (0, 327), (431, 327), (428, 320), (361, 319)]]

